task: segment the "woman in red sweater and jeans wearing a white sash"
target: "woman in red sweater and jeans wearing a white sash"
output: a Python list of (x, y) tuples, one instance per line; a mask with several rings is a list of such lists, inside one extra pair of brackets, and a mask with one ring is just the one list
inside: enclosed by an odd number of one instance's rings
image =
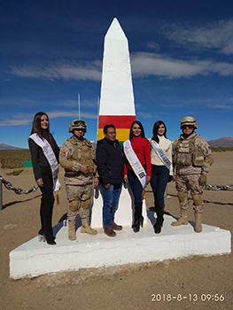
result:
[[(135, 152), (136, 158), (144, 167), (146, 172), (146, 182), (151, 180), (151, 145), (144, 136), (144, 127), (140, 121), (136, 120), (132, 123), (129, 133), (129, 141)], [(141, 166), (140, 165), (140, 166)], [(126, 159), (124, 167), (124, 180), (129, 182), (130, 188), (135, 198), (135, 215), (132, 228), (134, 232), (140, 230), (140, 225), (143, 227), (144, 217), (142, 215), (143, 208), (143, 185), (139, 181), (138, 175), (132, 169), (130, 162)]]

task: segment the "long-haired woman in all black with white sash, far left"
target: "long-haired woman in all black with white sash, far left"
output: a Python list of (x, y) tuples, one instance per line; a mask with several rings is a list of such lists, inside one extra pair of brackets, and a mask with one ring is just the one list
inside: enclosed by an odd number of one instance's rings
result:
[(28, 137), (35, 181), (42, 191), (41, 225), (39, 241), (56, 244), (52, 233), (51, 219), (54, 204), (53, 190), (58, 190), (59, 148), (50, 134), (49, 117), (44, 112), (37, 112), (33, 120), (31, 136)]

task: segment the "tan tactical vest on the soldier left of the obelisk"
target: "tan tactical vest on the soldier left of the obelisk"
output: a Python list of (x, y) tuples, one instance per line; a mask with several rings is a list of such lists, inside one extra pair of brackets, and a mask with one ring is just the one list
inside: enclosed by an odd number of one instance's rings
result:
[[(97, 172), (97, 165), (94, 162), (96, 155), (92, 144), (87, 139), (84, 139), (82, 143), (77, 143), (73, 137), (67, 139), (67, 141), (74, 145), (74, 152), (71, 159), (78, 161), (82, 166), (89, 166), (89, 173), (95, 174)], [(66, 171), (66, 174), (77, 173), (73, 171)]]

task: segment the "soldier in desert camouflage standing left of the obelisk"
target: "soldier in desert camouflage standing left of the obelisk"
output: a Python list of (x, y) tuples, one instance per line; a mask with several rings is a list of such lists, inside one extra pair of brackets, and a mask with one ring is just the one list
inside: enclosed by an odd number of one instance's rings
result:
[(94, 186), (98, 185), (96, 154), (92, 143), (83, 136), (87, 132), (84, 120), (73, 120), (69, 126), (73, 134), (60, 149), (60, 166), (65, 168), (64, 181), (69, 202), (68, 238), (75, 240), (75, 221), (79, 214), (82, 219), (82, 233), (96, 235), (97, 230), (89, 226), (89, 205), (92, 203)]

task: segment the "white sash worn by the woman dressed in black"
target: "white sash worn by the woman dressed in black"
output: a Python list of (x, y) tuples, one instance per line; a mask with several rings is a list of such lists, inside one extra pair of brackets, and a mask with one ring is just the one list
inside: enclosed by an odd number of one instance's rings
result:
[(60, 183), (58, 181), (58, 161), (56, 159), (54, 152), (52, 151), (50, 143), (48, 143), (48, 141), (44, 138), (42, 140), (37, 134), (31, 135), (29, 136), (29, 138), (33, 139), (33, 141), (42, 148), (43, 155), (46, 157), (46, 159), (50, 164), (53, 180), (53, 190), (54, 191), (59, 190)]

